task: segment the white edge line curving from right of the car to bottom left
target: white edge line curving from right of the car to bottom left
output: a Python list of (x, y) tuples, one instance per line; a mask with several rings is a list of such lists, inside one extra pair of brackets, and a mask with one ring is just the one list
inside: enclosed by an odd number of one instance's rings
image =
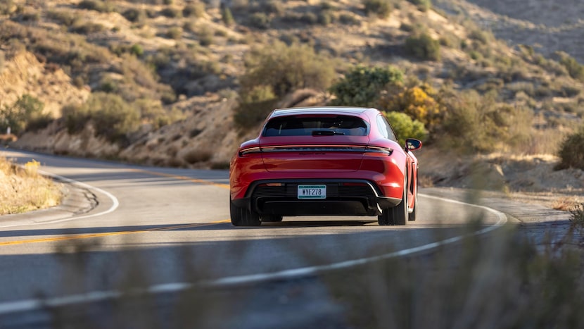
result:
[[(353, 266), (363, 265), (365, 263), (372, 263), (374, 261), (381, 261), (383, 259), (391, 259), (394, 257), (400, 256), (407, 256), (410, 254), (416, 254), (418, 252), (424, 252), (436, 247), (443, 246), (445, 244), (451, 244), (454, 242), (458, 242), (464, 237), (471, 237), (476, 235), (483, 235), (485, 233), (491, 232), (500, 228), (502, 225), (507, 223), (507, 216), (495, 209), (488, 208), (486, 206), (478, 206), (476, 204), (467, 204), (462, 201), (456, 201), (451, 199), (444, 199), (440, 197), (433, 197), (427, 194), (419, 194), (421, 197), (426, 197), (429, 199), (436, 199), (440, 201), (446, 201), (453, 204), (463, 204), (465, 206), (474, 206), (478, 209), (483, 209), (490, 213), (494, 213), (499, 220), (497, 223), (488, 226), (487, 228), (483, 228), (482, 230), (478, 230), (472, 234), (468, 235), (459, 235), (457, 237), (451, 237), (446, 240), (433, 242), (430, 244), (424, 244), (423, 246), (413, 247), (409, 249), (399, 250), (397, 252), (391, 252), (389, 254), (383, 254), (380, 256), (368, 257), (364, 259), (355, 259), (353, 261), (341, 261), (340, 263), (332, 263), (329, 265), (322, 265), (322, 266), (309, 266), (305, 268), (295, 268), (292, 270), (285, 270), (273, 273), (263, 273), (263, 274), (253, 274), (253, 275), (240, 275), (240, 276), (231, 276), (226, 278), (220, 278), (217, 280), (208, 280), (203, 281), (202, 283), (164, 283), (160, 285), (151, 285), (148, 288), (140, 289), (140, 290), (132, 290), (129, 294), (160, 294), (160, 293), (168, 293), (168, 292), (180, 292), (184, 290), (189, 290), (192, 287), (227, 287), (232, 285), (242, 285), (242, 284), (250, 284), (250, 283), (260, 283), (263, 281), (270, 281), (270, 280), (284, 280), (284, 279), (293, 279), (293, 278), (300, 278), (303, 276), (315, 275), (316, 273), (324, 272), (324, 271), (331, 271), (331, 270), (338, 270), (343, 268), (350, 268)], [(82, 304), (88, 302), (101, 302), (106, 299), (114, 299), (120, 298), (124, 295), (122, 292), (109, 290), (109, 291), (96, 291), (96, 292), (87, 292), (85, 294), (73, 294), (70, 296), (64, 297), (53, 297), (48, 299), (25, 299), (16, 302), (5, 302), (0, 303), (0, 315), (4, 314), (11, 314), (16, 312), (24, 312), (24, 311), (34, 311), (36, 309), (42, 309), (43, 307), (56, 307), (56, 306), (68, 306), (73, 304)]]

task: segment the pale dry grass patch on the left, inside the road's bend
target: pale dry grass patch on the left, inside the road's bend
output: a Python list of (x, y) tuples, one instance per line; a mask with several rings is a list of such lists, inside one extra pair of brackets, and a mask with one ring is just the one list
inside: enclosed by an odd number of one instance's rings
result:
[(39, 163), (23, 168), (0, 158), (0, 215), (45, 209), (61, 203), (61, 189), (38, 173)]

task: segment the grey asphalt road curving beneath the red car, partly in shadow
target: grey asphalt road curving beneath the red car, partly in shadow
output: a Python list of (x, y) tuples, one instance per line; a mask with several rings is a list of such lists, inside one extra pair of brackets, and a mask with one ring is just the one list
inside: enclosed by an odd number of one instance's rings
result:
[[(227, 170), (148, 168), (14, 150), (0, 156), (39, 161), (44, 172), (75, 181), (66, 186), (90, 199), (82, 213), (0, 217), (0, 327), (13, 323), (15, 314), (38, 309), (39, 301), (75, 307), (91, 296), (99, 303), (132, 289), (166, 296), (192, 283), (225, 291), (239, 283), (303, 280), (375, 256), (428, 251), (506, 221), (494, 211), (421, 195), (419, 219), (405, 227), (381, 227), (375, 217), (289, 217), (235, 228)], [(470, 230), (467, 223), (476, 218), (482, 225)], [(304, 308), (334, 309), (322, 298), (305, 298), (299, 303)], [(248, 299), (269, 300), (259, 292)], [(257, 324), (247, 314), (245, 321)], [(268, 327), (278, 323), (264, 316)]]

